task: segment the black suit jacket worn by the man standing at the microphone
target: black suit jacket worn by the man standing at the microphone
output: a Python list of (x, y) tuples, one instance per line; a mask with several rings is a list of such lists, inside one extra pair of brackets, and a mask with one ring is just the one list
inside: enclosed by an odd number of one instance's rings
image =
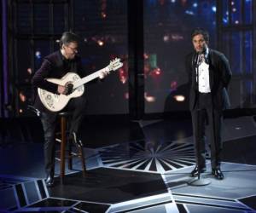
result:
[[(189, 74), (189, 82), (191, 85), (189, 94), (189, 109), (195, 109), (198, 98), (198, 83), (196, 82), (196, 53), (192, 52), (186, 56), (186, 71)], [(230, 83), (231, 70), (229, 61), (224, 54), (209, 49), (209, 81), (212, 95), (212, 107), (221, 111), (230, 107), (230, 99), (227, 88)]]

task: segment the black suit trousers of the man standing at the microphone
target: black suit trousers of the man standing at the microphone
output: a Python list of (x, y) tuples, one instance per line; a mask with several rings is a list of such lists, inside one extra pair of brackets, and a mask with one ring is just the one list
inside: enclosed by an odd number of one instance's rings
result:
[(195, 141), (196, 164), (206, 166), (206, 126), (209, 126), (212, 168), (220, 167), (220, 154), (222, 151), (221, 129), (223, 112), (212, 107), (211, 94), (199, 95), (195, 109), (191, 111), (193, 133)]

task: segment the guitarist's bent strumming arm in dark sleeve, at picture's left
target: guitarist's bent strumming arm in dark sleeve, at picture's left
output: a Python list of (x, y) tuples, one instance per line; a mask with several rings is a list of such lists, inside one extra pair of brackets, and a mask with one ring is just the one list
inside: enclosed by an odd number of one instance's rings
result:
[(49, 77), (49, 73), (52, 72), (52, 70), (53, 67), (50, 61), (44, 59), (42, 66), (38, 69), (32, 78), (32, 85), (37, 88), (45, 89), (51, 93), (58, 93), (58, 85), (45, 79)]

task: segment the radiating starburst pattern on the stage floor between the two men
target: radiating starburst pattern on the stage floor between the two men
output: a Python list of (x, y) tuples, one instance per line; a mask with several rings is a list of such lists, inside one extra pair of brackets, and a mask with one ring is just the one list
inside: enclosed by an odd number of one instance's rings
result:
[(195, 164), (193, 144), (180, 141), (121, 143), (102, 147), (99, 153), (104, 167), (123, 170), (165, 173)]

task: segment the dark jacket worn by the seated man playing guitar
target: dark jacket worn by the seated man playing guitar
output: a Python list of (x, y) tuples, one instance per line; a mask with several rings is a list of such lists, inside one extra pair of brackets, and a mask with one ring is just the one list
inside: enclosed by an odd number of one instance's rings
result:
[(47, 109), (38, 97), (37, 89), (45, 89), (56, 94), (58, 85), (48, 82), (45, 78), (62, 78), (67, 72), (76, 72), (79, 74), (80, 78), (83, 78), (86, 75), (79, 56), (75, 56), (73, 60), (65, 60), (59, 50), (44, 58), (42, 66), (32, 78), (34, 107), (41, 112), (47, 112)]

